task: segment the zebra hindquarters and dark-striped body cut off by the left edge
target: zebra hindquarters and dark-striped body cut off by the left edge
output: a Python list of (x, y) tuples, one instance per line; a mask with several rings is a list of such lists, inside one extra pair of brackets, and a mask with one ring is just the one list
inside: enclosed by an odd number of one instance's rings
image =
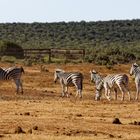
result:
[(21, 87), (21, 93), (23, 94), (21, 75), (24, 73), (23, 67), (10, 67), (7, 69), (0, 68), (0, 81), (14, 80), (16, 84), (16, 93), (18, 94)]

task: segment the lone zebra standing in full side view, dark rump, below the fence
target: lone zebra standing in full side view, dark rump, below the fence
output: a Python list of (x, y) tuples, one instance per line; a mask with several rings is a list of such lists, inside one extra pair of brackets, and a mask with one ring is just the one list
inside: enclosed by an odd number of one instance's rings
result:
[(77, 95), (82, 98), (82, 84), (83, 84), (83, 75), (79, 72), (65, 72), (61, 69), (56, 69), (54, 73), (54, 82), (60, 80), (62, 86), (62, 97), (67, 94), (68, 97), (68, 86), (75, 86), (77, 89)]

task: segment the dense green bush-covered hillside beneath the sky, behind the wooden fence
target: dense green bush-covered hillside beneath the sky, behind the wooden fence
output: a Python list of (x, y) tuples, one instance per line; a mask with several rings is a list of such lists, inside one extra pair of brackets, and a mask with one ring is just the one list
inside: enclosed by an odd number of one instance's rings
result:
[(125, 63), (140, 59), (140, 20), (1, 23), (0, 40), (23, 48), (84, 48), (88, 62)]

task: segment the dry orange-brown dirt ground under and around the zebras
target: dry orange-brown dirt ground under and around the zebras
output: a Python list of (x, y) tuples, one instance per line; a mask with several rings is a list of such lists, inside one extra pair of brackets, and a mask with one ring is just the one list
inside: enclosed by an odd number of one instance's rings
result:
[[(90, 82), (92, 69), (103, 76), (109, 73), (129, 76), (131, 64), (117, 65), (111, 70), (94, 64), (48, 64), (48, 72), (41, 72), (39, 65), (23, 67), (23, 95), (15, 95), (13, 82), (0, 82), (0, 139), (140, 140), (140, 101), (134, 100), (133, 77), (129, 78), (132, 101), (128, 101), (127, 94), (125, 101), (120, 101), (120, 92), (117, 101), (107, 101), (104, 94), (101, 101), (94, 101), (95, 86)], [(74, 87), (69, 88), (69, 98), (60, 97), (59, 81), (53, 82), (56, 68), (83, 73), (83, 99), (75, 99)], [(113, 124), (114, 118), (119, 118), (122, 124)], [(15, 132), (18, 126), (22, 133)]]

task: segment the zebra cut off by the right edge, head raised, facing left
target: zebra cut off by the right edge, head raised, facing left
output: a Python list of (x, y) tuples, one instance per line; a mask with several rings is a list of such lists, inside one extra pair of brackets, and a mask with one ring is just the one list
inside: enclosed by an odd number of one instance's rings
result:
[(138, 100), (139, 98), (139, 92), (140, 92), (140, 67), (138, 66), (138, 64), (134, 63), (131, 66), (130, 69), (130, 75), (134, 75), (135, 76), (135, 84), (136, 84), (136, 100)]

